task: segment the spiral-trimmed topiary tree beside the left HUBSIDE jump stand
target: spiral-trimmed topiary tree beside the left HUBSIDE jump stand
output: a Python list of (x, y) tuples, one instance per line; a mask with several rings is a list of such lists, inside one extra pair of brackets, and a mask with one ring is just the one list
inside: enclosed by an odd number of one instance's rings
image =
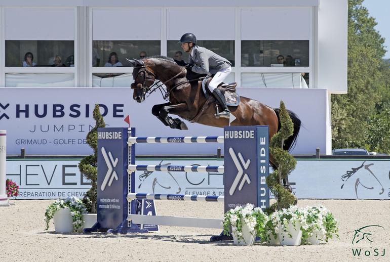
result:
[(96, 213), (97, 204), (97, 128), (105, 127), (103, 117), (100, 114), (99, 105), (96, 104), (93, 110), (93, 118), (96, 121), (95, 127), (87, 134), (87, 144), (93, 149), (94, 154), (86, 156), (79, 163), (80, 172), (91, 181), (92, 187), (83, 198), (87, 211)]

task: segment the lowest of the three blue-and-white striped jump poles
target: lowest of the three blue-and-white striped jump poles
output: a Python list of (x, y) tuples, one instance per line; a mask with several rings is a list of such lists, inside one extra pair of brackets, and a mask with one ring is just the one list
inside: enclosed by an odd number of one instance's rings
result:
[(127, 198), (129, 201), (133, 199), (147, 199), (147, 200), (224, 202), (223, 196), (197, 196), (197, 195), (175, 195), (175, 194), (129, 193), (127, 195)]

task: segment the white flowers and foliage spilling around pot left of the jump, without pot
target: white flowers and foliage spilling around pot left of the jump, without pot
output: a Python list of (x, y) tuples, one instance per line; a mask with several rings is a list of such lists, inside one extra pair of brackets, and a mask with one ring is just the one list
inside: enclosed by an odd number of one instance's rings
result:
[(49, 222), (53, 219), (54, 213), (62, 208), (69, 208), (73, 220), (73, 230), (77, 231), (83, 225), (83, 214), (86, 213), (86, 207), (77, 197), (68, 197), (65, 200), (57, 199), (48, 206), (45, 212), (46, 229), (49, 229)]

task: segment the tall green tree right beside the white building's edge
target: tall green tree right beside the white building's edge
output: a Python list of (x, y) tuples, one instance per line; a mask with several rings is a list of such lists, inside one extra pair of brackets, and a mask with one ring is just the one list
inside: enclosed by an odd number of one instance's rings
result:
[(333, 148), (364, 147), (367, 120), (381, 103), (375, 91), (383, 73), (384, 39), (362, 2), (348, 0), (348, 94), (331, 95)]

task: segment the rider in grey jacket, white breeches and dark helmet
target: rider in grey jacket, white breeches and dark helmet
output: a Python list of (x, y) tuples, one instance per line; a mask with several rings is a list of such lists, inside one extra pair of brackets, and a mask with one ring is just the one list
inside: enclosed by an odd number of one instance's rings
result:
[(215, 74), (209, 83), (209, 90), (217, 101), (223, 106), (222, 112), (215, 116), (229, 118), (230, 111), (226, 106), (225, 97), (221, 91), (217, 89), (220, 84), (231, 72), (231, 63), (215, 54), (213, 51), (203, 47), (196, 46), (197, 37), (192, 33), (185, 33), (180, 38), (178, 43), (181, 43), (181, 48), (189, 54), (187, 69), (198, 74)]

